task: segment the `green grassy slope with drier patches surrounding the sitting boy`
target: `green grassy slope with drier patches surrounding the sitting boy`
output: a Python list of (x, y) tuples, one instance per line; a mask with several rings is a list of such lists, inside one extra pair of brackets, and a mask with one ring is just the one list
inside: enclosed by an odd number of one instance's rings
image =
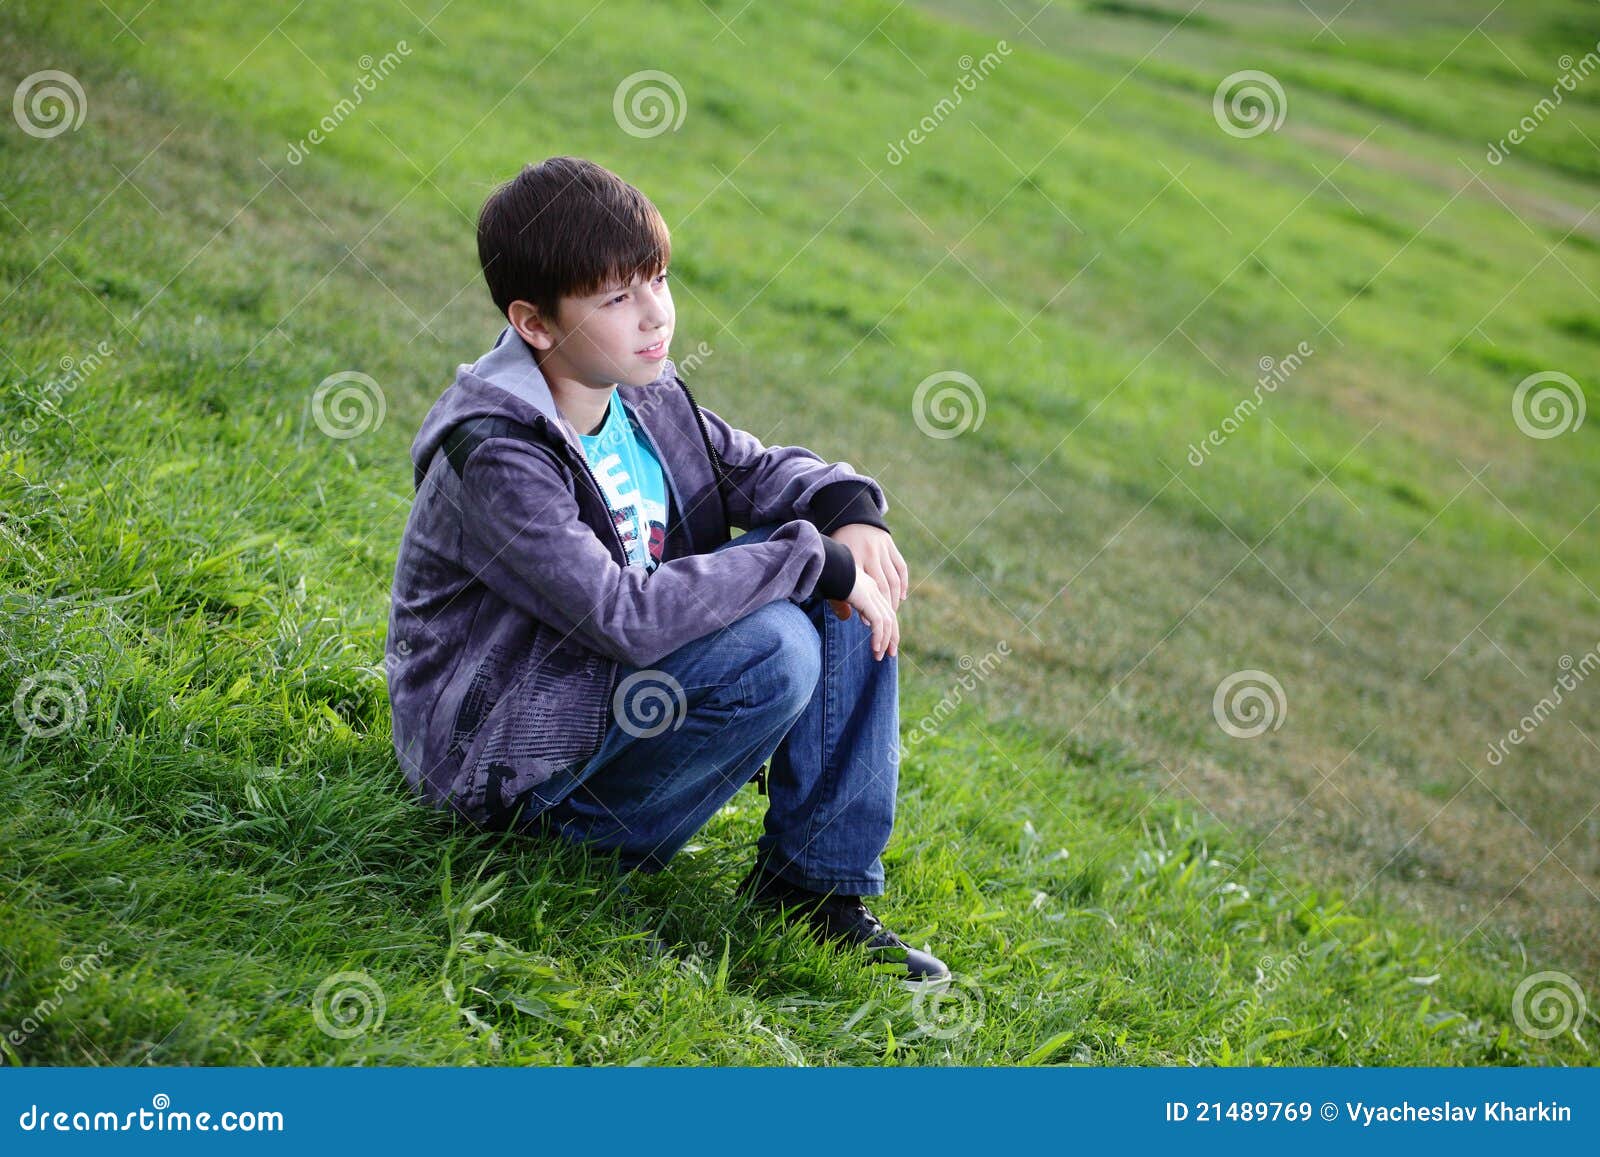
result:
[[(1600, 1000), (1600, 687), (1485, 760), (1600, 643), (1595, 422), (1510, 414), (1600, 382), (1600, 88), (1483, 160), (1590, 5), (530, 8), (0, 8), (8, 86), (88, 94), (0, 131), (0, 696), (74, 711), (0, 711), (10, 1063), (1594, 1063), (1594, 1010), (1546, 1040), (1512, 1003), (1542, 970)], [(658, 67), (685, 122), (627, 136)], [(1280, 131), (1218, 128), (1240, 69)], [(662, 208), (702, 400), (890, 491), (938, 725), (878, 907), (960, 973), (938, 1008), (730, 906), (754, 791), (632, 896), (403, 795), (406, 450), (498, 326), (472, 214), (555, 152)], [(336, 442), (342, 370), (386, 416)], [(910, 413), (939, 371), (986, 403), (946, 440)], [(1211, 714), (1242, 669), (1286, 695), (1256, 739)], [(317, 1027), (339, 973), (381, 1024)]]

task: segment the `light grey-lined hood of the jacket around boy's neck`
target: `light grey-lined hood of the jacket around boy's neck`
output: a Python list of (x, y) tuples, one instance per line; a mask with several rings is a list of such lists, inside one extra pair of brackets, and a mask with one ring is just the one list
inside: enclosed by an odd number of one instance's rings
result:
[[(637, 394), (670, 384), (677, 378), (677, 366), (672, 358), (662, 358), (661, 373), (650, 386), (618, 386), (626, 398), (634, 400)], [(416, 485), (422, 485), (427, 467), (434, 461), (445, 435), (458, 422), (469, 418), (510, 418), (534, 429), (546, 430), (547, 435), (565, 438), (573, 451), (582, 458), (582, 443), (571, 424), (562, 418), (555, 406), (550, 386), (533, 357), (533, 349), (522, 334), (507, 323), (496, 338), (493, 349), (472, 365), (456, 366), (456, 379), (451, 382), (422, 419), (416, 440), (411, 443), (411, 464), (416, 470)]]

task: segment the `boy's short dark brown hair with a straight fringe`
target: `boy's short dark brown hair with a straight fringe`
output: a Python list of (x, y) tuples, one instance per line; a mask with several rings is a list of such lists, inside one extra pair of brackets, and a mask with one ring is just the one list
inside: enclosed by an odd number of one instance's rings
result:
[(478, 213), (478, 262), (502, 314), (526, 301), (555, 317), (562, 298), (654, 277), (670, 256), (650, 198), (582, 157), (525, 165)]

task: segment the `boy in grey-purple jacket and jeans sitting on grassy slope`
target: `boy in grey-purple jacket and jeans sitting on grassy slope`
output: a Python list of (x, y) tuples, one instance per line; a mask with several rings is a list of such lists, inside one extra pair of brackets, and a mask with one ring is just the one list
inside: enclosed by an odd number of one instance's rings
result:
[(507, 325), (411, 446), (386, 663), (406, 781), (653, 872), (770, 760), (738, 891), (946, 979), (861, 899), (883, 891), (909, 586), (883, 490), (696, 406), (669, 258), (656, 206), (576, 157), (485, 202)]

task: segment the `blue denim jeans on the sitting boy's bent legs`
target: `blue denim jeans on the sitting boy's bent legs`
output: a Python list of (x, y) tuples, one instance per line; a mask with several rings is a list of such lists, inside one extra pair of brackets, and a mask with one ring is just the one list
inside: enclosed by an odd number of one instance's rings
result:
[(520, 826), (654, 872), (771, 760), (757, 861), (813, 891), (880, 895), (899, 778), (896, 663), (872, 658), (859, 615), (840, 619), (813, 595), (771, 602), (654, 667), (624, 664), (600, 749), (533, 789)]

